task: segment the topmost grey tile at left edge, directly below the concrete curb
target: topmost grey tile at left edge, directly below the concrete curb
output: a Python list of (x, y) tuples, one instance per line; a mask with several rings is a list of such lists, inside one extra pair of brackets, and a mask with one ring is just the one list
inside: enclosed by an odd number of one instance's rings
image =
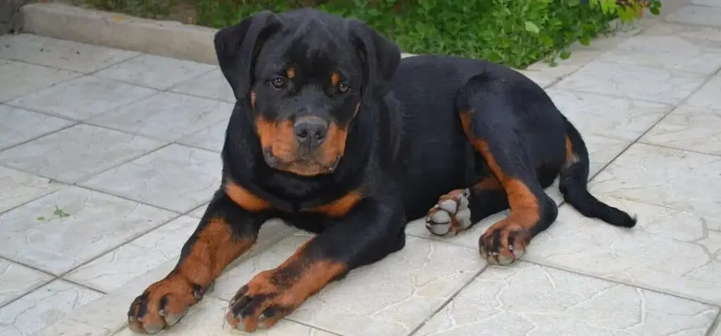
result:
[(0, 37), (0, 58), (89, 73), (140, 55), (30, 34)]

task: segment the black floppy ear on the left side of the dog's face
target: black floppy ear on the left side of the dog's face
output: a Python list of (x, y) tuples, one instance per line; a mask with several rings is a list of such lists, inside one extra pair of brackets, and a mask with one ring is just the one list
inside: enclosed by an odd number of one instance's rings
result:
[(236, 100), (248, 96), (253, 83), (253, 66), (260, 47), (280, 27), (280, 18), (273, 12), (263, 11), (243, 19), (238, 25), (216, 32), (218, 65), (228, 80)]

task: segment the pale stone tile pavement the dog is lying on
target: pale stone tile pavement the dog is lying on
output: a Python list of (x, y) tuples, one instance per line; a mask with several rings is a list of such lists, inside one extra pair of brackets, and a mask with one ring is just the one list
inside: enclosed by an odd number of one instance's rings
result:
[[(487, 267), (477, 238), (503, 214), (450, 239), (412, 222), (404, 250), (257, 335), (721, 336), (721, 4), (691, 2), (524, 71), (636, 229), (562, 205), (522, 262)], [(0, 102), (0, 335), (130, 336), (128, 304), (218, 186), (229, 86), (206, 64), (5, 35)], [(229, 297), (308, 239), (278, 221), (261, 235), (166, 335), (233, 334)]]

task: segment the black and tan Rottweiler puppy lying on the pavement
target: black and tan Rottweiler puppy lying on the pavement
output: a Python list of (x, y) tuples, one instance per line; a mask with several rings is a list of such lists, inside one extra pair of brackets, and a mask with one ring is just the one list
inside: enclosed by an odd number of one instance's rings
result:
[(415, 218), (434, 234), (457, 234), (510, 208), (479, 251), (494, 264), (518, 260), (557, 216), (544, 187), (558, 176), (583, 215), (635, 224), (588, 193), (580, 134), (509, 68), (401, 61), (363, 22), (311, 9), (256, 14), (220, 30), (215, 45), (237, 98), (223, 184), (176, 268), (133, 301), (137, 332), (177, 323), (270, 218), (317, 236), (239, 283), (226, 319), (240, 330), (270, 327), (332, 280), (402, 249)]

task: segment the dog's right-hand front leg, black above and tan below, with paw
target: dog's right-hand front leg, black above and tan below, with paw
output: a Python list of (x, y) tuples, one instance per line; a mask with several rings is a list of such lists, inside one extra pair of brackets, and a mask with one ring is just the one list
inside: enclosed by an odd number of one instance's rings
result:
[(402, 249), (404, 216), (399, 205), (365, 199), (327, 231), (306, 242), (282, 265), (265, 270), (231, 299), (226, 320), (246, 332), (267, 328), (309, 296), (353, 268)]

